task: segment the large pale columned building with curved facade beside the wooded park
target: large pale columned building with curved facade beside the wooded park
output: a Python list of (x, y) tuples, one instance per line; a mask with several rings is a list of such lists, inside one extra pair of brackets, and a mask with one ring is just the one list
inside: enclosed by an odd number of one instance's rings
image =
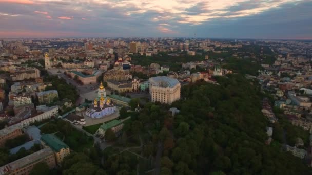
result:
[(151, 101), (171, 104), (180, 99), (181, 84), (177, 79), (166, 76), (149, 78)]

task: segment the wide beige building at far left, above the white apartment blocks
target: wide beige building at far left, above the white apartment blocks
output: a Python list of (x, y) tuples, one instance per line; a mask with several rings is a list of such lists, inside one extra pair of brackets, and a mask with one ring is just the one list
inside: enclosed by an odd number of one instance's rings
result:
[(20, 68), (13, 75), (11, 75), (13, 81), (21, 81), (30, 78), (39, 78), (40, 71), (36, 68)]

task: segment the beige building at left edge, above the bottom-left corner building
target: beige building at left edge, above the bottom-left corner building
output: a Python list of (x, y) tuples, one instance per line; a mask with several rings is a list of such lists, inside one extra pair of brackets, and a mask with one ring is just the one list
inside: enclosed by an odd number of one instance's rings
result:
[(22, 134), (23, 133), (19, 123), (0, 130), (0, 147), (4, 147), (7, 140), (14, 139)]

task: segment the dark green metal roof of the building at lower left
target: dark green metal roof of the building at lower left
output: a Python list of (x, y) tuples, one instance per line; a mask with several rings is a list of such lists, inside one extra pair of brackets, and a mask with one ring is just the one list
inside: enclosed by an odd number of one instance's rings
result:
[(59, 138), (52, 134), (42, 135), (41, 140), (56, 152), (59, 152), (62, 148), (66, 149), (69, 147)]

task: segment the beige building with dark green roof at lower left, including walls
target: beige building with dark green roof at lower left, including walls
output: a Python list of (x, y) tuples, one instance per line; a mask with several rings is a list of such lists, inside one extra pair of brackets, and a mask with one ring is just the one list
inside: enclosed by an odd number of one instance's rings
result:
[(50, 147), (53, 150), (57, 164), (61, 164), (64, 157), (70, 154), (69, 146), (53, 134), (42, 135), (41, 143), (45, 147)]

